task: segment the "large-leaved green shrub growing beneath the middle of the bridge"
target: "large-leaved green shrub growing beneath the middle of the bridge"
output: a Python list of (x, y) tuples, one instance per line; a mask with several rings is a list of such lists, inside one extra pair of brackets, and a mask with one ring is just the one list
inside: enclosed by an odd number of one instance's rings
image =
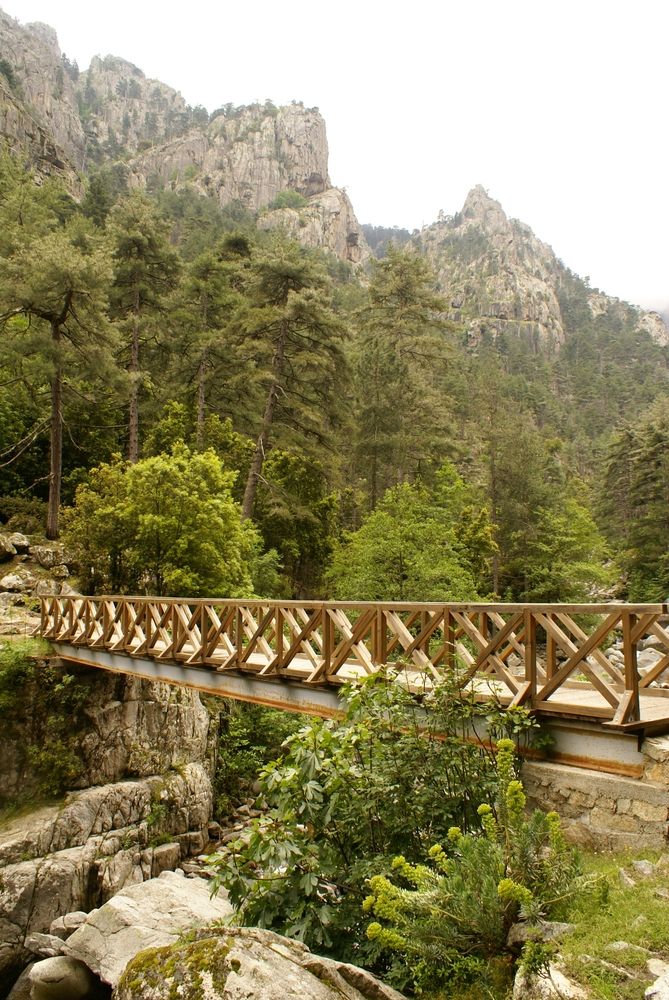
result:
[(366, 942), (360, 912), (366, 879), (394, 853), (418, 860), (456, 824), (480, 828), (478, 807), (496, 782), (483, 733), (507, 724), (504, 713), (446, 687), (431, 696), (429, 713), (383, 677), (349, 689), (343, 721), (312, 722), (265, 768), (271, 810), (248, 844), (213, 859), (216, 885), (244, 922), (371, 958), (378, 949)]

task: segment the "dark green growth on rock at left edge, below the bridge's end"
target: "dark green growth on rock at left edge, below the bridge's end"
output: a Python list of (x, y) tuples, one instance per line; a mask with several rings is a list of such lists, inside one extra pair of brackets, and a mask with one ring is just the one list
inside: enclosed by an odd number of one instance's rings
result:
[[(43, 659), (43, 644), (0, 642), (0, 723), (18, 754), (18, 800), (61, 795), (80, 776), (87, 686)], [(30, 706), (30, 708), (29, 708)]]

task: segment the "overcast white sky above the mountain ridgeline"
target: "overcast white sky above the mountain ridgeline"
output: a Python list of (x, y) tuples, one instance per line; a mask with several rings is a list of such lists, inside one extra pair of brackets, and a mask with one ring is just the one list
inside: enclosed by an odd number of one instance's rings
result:
[(0, 6), (209, 111), (317, 105), (361, 222), (419, 228), (481, 183), (593, 286), (669, 305), (667, 0)]

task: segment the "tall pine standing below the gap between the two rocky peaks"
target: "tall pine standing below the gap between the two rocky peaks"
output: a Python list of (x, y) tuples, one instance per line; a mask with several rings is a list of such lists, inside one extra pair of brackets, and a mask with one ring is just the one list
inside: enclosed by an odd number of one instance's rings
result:
[(452, 451), (446, 372), (453, 325), (427, 261), (389, 246), (375, 261), (351, 351), (353, 470), (371, 507), (402, 482), (430, 480)]

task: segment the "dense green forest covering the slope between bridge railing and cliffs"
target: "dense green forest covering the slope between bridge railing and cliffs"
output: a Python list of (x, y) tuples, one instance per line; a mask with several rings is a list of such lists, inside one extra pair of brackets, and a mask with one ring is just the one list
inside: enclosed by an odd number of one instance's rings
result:
[(565, 269), (559, 350), (473, 347), (392, 230), (354, 272), (256, 221), (2, 160), (4, 522), (92, 592), (666, 596), (669, 356), (631, 310)]

